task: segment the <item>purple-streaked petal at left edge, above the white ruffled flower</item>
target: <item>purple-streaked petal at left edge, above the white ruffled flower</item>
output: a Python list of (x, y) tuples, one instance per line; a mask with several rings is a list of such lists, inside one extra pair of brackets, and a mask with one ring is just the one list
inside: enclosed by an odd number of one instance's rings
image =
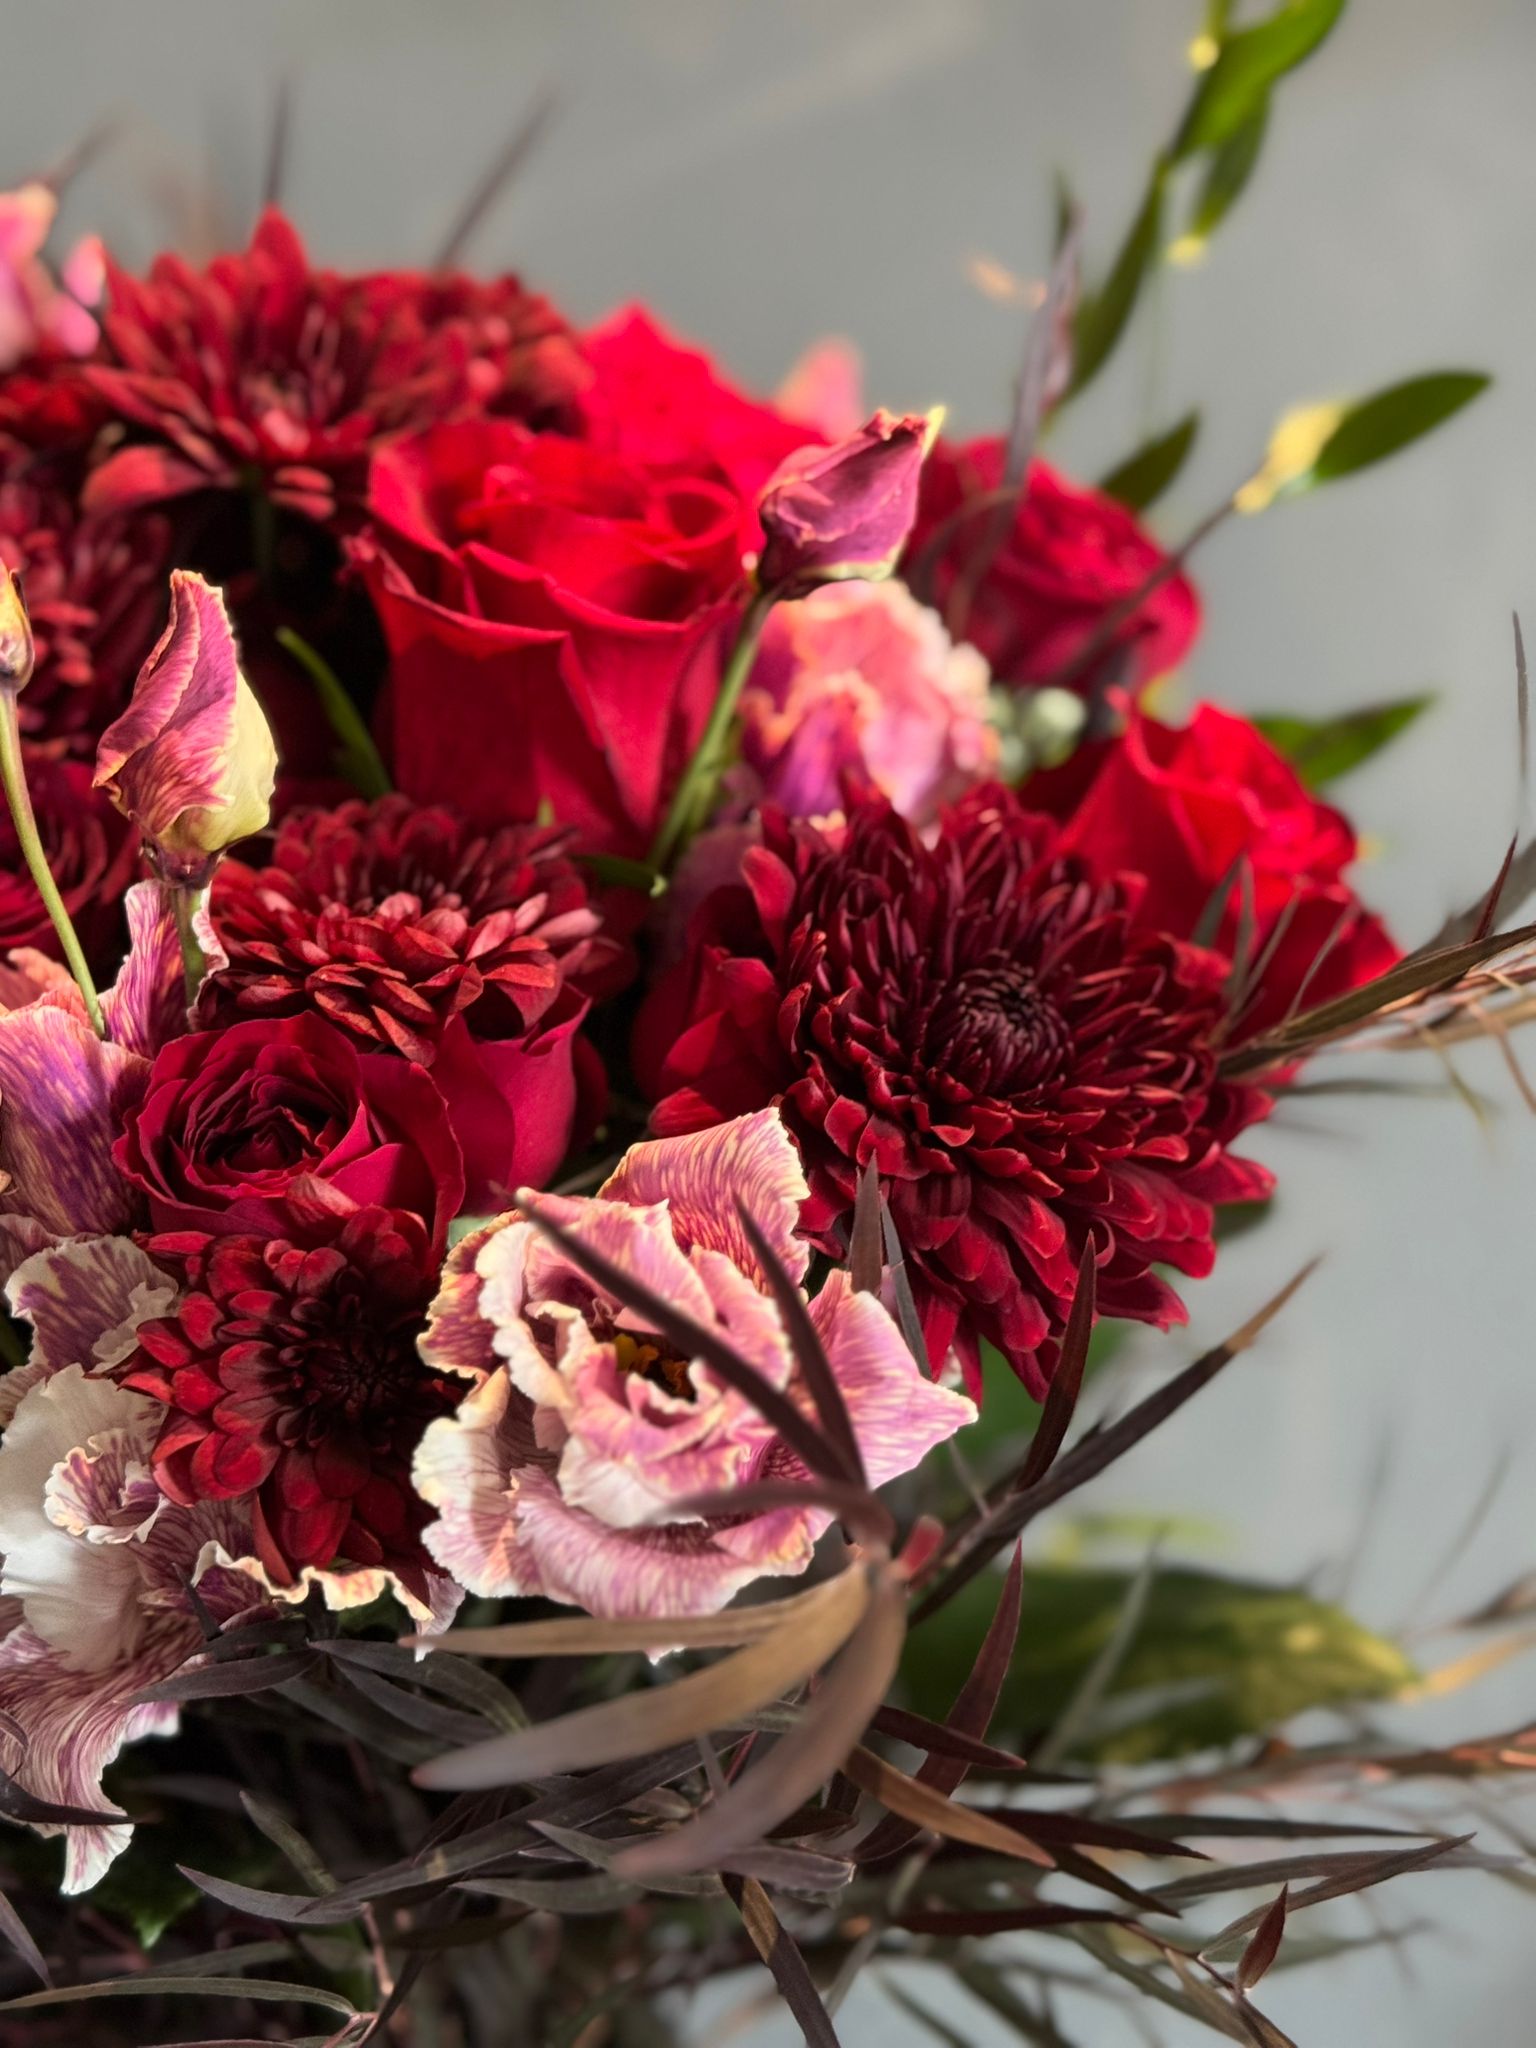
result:
[(113, 1235), (135, 1219), (133, 1188), (113, 1163), (150, 1063), (100, 1040), (84, 1016), (47, 997), (0, 1016), (0, 1214), (49, 1237)]

